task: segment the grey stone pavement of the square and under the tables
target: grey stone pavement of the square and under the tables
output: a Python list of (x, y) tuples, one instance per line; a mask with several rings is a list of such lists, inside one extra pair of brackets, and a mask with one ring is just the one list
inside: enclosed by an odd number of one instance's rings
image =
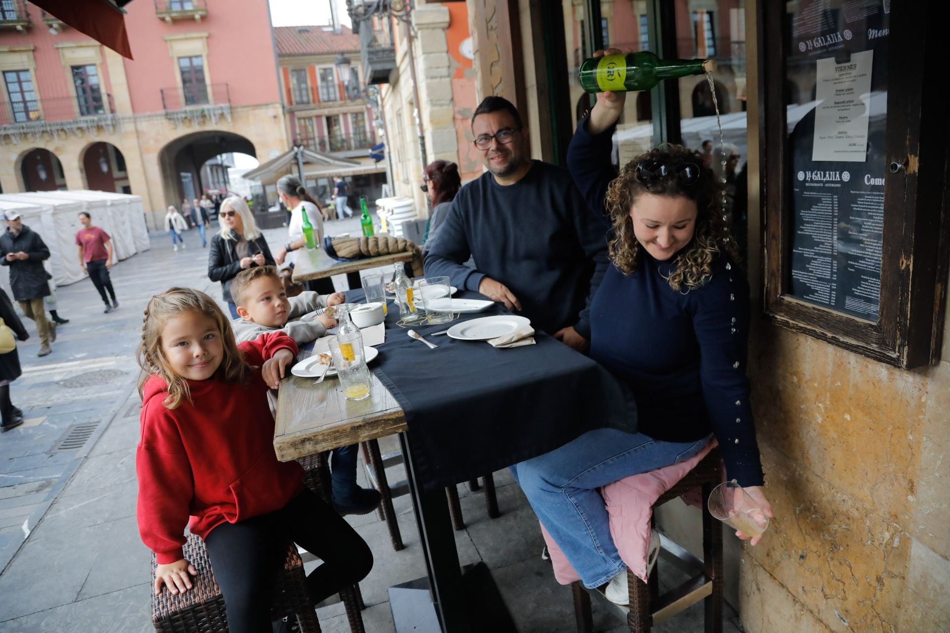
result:
[[(328, 233), (359, 232), (358, 219), (331, 222)], [(283, 229), (265, 232), (278, 247)], [(89, 280), (58, 289), (59, 328), (53, 353), (39, 359), (35, 327), (19, 346), (24, 375), (11, 396), (27, 422), (0, 436), (0, 631), (5, 633), (111, 633), (154, 630), (150, 622), (150, 554), (135, 521), (135, 446), (139, 438), (138, 368), (142, 308), (152, 294), (173, 285), (209, 291), (207, 250), (195, 232), (188, 248), (173, 252), (164, 234), (152, 250), (112, 270), (121, 303), (104, 314)], [(345, 277), (334, 278), (345, 289)], [(383, 451), (397, 446), (385, 438)], [(403, 478), (390, 469), (390, 481)], [(362, 477), (362, 475), (360, 475)], [(482, 493), (459, 486), (466, 530), (456, 532), (463, 565), (485, 561), (519, 630), (573, 631), (570, 591), (542, 561), (541, 532), (523, 493), (507, 471), (495, 475), (502, 516), (490, 520)], [(368, 631), (393, 630), (388, 587), (424, 576), (412, 508), (395, 500), (406, 549), (394, 552), (375, 513), (348, 517), (370, 544), (375, 565), (361, 583)], [(661, 562), (661, 565), (663, 562)], [(313, 565), (313, 564), (311, 564)], [(343, 605), (321, 605), (324, 631), (349, 630)], [(733, 614), (734, 617), (734, 614)], [(626, 630), (595, 605), (598, 631)], [(702, 630), (702, 606), (656, 627), (658, 633)], [(737, 629), (726, 623), (727, 633)]]

